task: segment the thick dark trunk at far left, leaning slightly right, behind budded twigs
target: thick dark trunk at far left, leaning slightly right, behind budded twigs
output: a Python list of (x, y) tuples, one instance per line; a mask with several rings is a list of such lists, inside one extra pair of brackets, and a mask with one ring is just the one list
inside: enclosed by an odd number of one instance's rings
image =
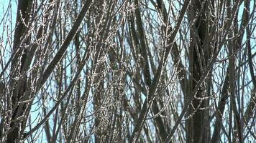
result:
[[(24, 36), (26, 25), (29, 22), (29, 13), (32, 6), (32, 1), (19, 1), (17, 8), (17, 21), (14, 33), (13, 51), (17, 51), (19, 58), (12, 61), (12, 118), (10, 124), (10, 132), (7, 134), (7, 142), (16, 142), (17, 139), (23, 136), (24, 127), (26, 124), (25, 114), (26, 104), (19, 104), (25, 96), (27, 90), (27, 76), (24, 74), (28, 69), (27, 54), (28, 50), (24, 45), (29, 44), (29, 36)], [(26, 25), (25, 25), (26, 24)], [(21, 41), (24, 39), (24, 41)], [(23, 74), (23, 75), (22, 75)], [(19, 77), (19, 78), (17, 78)], [(15, 79), (17, 78), (17, 79)], [(21, 119), (18, 119), (22, 117)]]

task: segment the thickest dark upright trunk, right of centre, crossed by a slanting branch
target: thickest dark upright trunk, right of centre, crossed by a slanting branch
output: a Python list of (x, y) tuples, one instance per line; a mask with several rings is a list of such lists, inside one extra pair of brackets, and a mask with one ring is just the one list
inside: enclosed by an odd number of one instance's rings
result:
[[(206, 1), (196, 0), (191, 1), (191, 7), (189, 11), (191, 25), (191, 47), (190, 47), (190, 89), (193, 91), (196, 84), (203, 74), (204, 67), (206, 67), (206, 36), (207, 36), (207, 22), (206, 22)], [(207, 106), (204, 98), (204, 84), (203, 87), (199, 87), (196, 96), (193, 97), (191, 107), (189, 108), (188, 115), (191, 118), (186, 122), (187, 125), (187, 142), (209, 142), (208, 127), (208, 114), (204, 108)], [(188, 92), (190, 93), (190, 92)], [(189, 96), (189, 94), (188, 94)]]

